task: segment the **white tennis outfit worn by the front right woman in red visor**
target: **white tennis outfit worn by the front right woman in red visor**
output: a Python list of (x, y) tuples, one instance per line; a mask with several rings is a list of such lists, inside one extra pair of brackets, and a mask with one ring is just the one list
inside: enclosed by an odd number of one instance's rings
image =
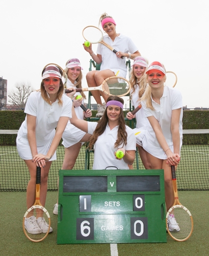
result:
[[(180, 120), (179, 120), (179, 134), (180, 134), (180, 146), (182, 145), (182, 96), (181, 93), (175, 88), (164, 87), (163, 96), (160, 99), (160, 104), (156, 103), (152, 99), (152, 105), (154, 111), (146, 108), (145, 101), (142, 101), (142, 107), (146, 117), (154, 116), (158, 120), (163, 135), (168, 143), (168, 146), (173, 152), (173, 141), (171, 134), (171, 116), (172, 110), (180, 109)], [(160, 146), (158, 140), (156, 139), (154, 130), (152, 129), (150, 123), (147, 126), (145, 136), (142, 141), (144, 149), (151, 155), (160, 158), (167, 159), (166, 154), (164, 153), (162, 147)]]

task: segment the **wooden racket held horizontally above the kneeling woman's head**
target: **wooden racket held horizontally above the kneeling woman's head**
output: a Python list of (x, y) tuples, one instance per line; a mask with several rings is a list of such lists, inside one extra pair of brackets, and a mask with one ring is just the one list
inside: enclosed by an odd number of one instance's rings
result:
[[(76, 92), (86, 92), (86, 91), (101, 91), (106, 95), (114, 95), (118, 97), (123, 97), (130, 92), (130, 83), (123, 77), (111, 76), (106, 78), (102, 84), (98, 87), (88, 87), (88, 88), (77, 88)], [(65, 90), (65, 93), (71, 93), (71, 90)]]

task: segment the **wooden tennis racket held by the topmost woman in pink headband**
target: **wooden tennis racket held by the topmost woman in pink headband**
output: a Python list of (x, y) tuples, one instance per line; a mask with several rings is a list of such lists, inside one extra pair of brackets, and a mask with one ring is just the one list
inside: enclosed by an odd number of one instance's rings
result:
[[(112, 52), (117, 53), (118, 51), (115, 50), (112, 46), (109, 46), (108, 44), (106, 44), (105, 41), (103, 41), (103, 32), (95, 27), (95, 26), (87, 26), (83, 29), (83, 37), (86, 41), (91, 42), (91, 44), (102, 44), (106, 47), (108, 47)], [(123, 59), (124, 56), (121, 56), (121, 58)]]

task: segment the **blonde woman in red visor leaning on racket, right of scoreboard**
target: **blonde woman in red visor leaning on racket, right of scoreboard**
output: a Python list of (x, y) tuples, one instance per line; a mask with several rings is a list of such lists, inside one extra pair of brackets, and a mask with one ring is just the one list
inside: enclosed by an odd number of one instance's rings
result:
[[(170, 165), (180, 161), (182, 145), (182, 96), (166, 83), (164, 66), (154, 61), (147, 72), (148, 87), (142, 96), (142, 107), (149, 125), (142, 140), (151, 169), (164, 169), (167, 210), (173, 205), (174, 194)], [(179, 231), (175, 217), (168, 218), (169, 230)]]

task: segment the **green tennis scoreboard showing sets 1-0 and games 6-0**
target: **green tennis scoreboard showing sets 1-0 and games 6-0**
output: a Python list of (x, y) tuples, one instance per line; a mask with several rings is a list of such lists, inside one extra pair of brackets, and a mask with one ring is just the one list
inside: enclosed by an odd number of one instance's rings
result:
[(166, 240), (164, 170), (60, 170), (58, 244)]

